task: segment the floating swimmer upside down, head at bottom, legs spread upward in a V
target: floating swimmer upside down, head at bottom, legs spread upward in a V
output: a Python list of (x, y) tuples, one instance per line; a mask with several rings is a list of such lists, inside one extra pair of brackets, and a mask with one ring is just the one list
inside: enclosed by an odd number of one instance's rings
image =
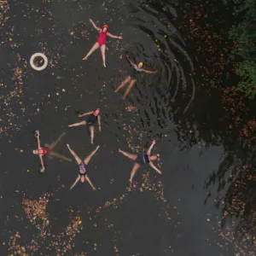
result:
[(79, 176), (77, 177), (76, 181), (73, 183), (70, 189), (73, 189), (73, 187), (81, 181), (81, 183), (84, 183), (85, 179), (90, 183), (90, 186), (93, 190), (96, 190), (96, 187), (93, 185), (93, 183), (90, 182), (90, 178), (87, 175), (87, 168), (88, 168), (88, 163), (90, 162), (91, 158), (93, 157), (94, 154), (96, 154), (96, 151), (100, 146), (97, 146), (94, 151), (92, 151), (85, 159), (82, 161), (77, 154), (69, 147), (69, 144), (67, 144), (67, 148), (69, 149), (70, 153), (73, 154), (73, 157), (77, 161), (79, 165)]

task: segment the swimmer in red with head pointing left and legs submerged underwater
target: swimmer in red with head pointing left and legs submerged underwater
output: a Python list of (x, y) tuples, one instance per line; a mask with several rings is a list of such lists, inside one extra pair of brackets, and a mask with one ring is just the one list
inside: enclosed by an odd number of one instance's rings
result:
[(39, 137), (39, 132), (38, 132), (38, 149), (35, 149), (33, 150), (33, 154), (38, 154), (40, 160), (41, 160), (41, 166), (42, 166), (42, 172), (45, 171), (45, 167), (44, 167), (44, 160), (43, 160), (43, 156), (45, 154), (49, 154), (49, 155), (52, 155), (52, 156), (55, 156), (55, 157), (58, 157), (60, 159), (63, 159), (63, 160), (67, 160), (67, 161), (72, 161), (71, 159), (67, 158), (66, 156), (62, 155), (62, 154), (58, 154), (54, 151), (52, 151), (53, 148), (55, 148), (55, 146), (57, 145), (57, 143), (59, 143), (61, 141), (61, 137), (63, 137), (66, 133), (63, 132), (61, 134), (60, 137), (58, 137), (58, 139), (55, 141), (55, 143), (51, 143), (49, 145), (49, 147), (47, 148), (42, 148), (41, 147), (41, 143), (40, 143), (40, 137)]

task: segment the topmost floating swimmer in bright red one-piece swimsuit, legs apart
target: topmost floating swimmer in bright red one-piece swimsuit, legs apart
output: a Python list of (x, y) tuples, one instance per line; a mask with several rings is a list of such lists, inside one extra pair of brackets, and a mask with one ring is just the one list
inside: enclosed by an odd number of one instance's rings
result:
[(92, 26), (94, 26), (94, 28), (100, 32), (99, 34), (99, 38), (96, 42), (96, 44), (94, 44), (92, 46), (92, 48), (90, 49), (89, 53), (84, 57), (84, 60), (87, 60), (87, 58), (98, 48), (101, 48), (102, 51), (102, 60), (103, 60), (103, 66), (106, 67), (106, 57), (105, 57), (105, 49), (106, 49), (106, 39), (107, 36), (110, 38), (117, 38), (117, 39), (123, 39), (121, 36), (113, 36), (111, 33), (107, 32), (108, 30), (108, 25), (104, 25), (101, 28), (97, 27), (96, 24), (93, 22), (93, 20), (89, 20), (90, 23), (92, 24)]

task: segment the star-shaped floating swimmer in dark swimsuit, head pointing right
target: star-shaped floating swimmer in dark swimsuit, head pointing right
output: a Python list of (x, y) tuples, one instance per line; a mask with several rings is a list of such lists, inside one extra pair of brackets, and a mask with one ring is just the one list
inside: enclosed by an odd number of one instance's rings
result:
[(152, 163), (152, 161), (157, 159), (156, 155), (150, 155), (151, 149), (154, 147), (154, 144), (155, 144), (155, 140), (151, 143), (151, 146), (148, 148), (148, 151), (146, 154), (130, 154), (130, 153), (127, 153), (127, 152), (119, 149), (119, 152), (121, 154), (124, 154), (131, 160), (135, 161), (135, 164), (131, 170), (131, 177), (129, 179), (131, 183), (132, 183), (132, 179), (133, 179), (135, 173), (137, 172), (138, 168), (143, 165), (149, 164), (149, 166), (151, 166), (156, 172), (162, 174), (162, 172), (156, 166), (154, 166), (154, 164)]

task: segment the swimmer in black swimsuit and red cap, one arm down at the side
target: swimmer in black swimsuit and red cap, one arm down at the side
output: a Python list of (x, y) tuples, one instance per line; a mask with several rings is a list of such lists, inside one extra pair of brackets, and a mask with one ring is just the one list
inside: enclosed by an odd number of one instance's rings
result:
[(87, 113), (79, 114), (79, 117), (80, 118), (84, 117), (84, 120), (82, 122), (79, 122), (73, 125), (68, 125), (68, 127), (79, 126), (79, 125), (89, 125), (90, 143), (93, 144), (94, 124), (96, 123), (96, 120), (98, 120), (99, 131), (102, 131), (100, 108), (96, 109), (96, 111), (90, 111)]

